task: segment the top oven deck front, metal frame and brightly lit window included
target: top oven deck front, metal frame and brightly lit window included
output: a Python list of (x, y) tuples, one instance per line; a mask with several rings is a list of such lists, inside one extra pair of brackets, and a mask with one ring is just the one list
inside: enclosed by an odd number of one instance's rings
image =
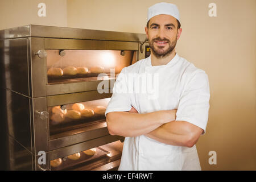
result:
[[(138, 42), (31, 38), (32, 97), (97, 90), (138, 60)], [(104, 85), (104, 89), (113, 87)]]

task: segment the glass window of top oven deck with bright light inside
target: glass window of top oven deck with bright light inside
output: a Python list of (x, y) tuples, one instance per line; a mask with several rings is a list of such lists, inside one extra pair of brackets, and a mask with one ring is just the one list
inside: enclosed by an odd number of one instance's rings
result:
[(109, 79), (137, 60), (136, 51), (46, 51), (48, 84)]

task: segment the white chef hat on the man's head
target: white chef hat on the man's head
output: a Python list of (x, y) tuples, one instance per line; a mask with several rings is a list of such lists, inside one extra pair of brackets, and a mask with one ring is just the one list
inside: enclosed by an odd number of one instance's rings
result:
[(177, 6), (171, 3), (160, 2), (148, 8), (147, 11), (147, 22), (156, 15), (166, 14), (174, 16), (180, 22), (180, 14)]

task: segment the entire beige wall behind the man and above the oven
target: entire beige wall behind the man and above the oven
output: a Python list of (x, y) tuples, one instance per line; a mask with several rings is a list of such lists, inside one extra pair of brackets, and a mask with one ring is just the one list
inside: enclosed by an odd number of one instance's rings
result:
[[(36, 17), (39, 2), (49, 7), (46, 19)], [(0, 29), (46, 24), (144, 33), (147, 7), (156, 2), (161, 1), (1, 0)], [(255, 0), (166, 2), (176, 3), (180, 10), (183, 32), (177, 53), (209, 76), (207, 133), (197, 143), (202, 169), (256, 170)], [(214, 18), (208, 16), (211, 2), (217, 5)], [(209, 151), (217, 152), (216, 165), (208, 163)]]

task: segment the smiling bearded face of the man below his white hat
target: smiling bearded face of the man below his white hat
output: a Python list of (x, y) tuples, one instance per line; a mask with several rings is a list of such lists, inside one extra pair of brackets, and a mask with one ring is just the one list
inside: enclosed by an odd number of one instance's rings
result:
[(177, 20), (170, 15), (152, 17), (146, 27), (148, 43), (156, 57), (166, 57), (174, 50), (180, 31), (177, 30)]

